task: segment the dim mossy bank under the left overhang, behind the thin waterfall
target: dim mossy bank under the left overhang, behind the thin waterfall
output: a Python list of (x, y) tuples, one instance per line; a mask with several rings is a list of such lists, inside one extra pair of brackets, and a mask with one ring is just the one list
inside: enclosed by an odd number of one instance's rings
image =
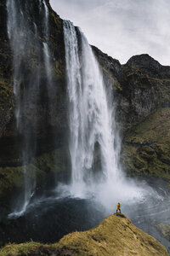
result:
[(10, 198), (14, 189), (24, 187), (24, 171), (26, 169), (28, 178), (33, 180), (36, 177), (37, 184), (41, 184), (54, 174), (61, 175), (68, 172), (67, 152), (65, 148), (57, 148), (38, 156), (27, 166), (0, 167), (0, 201), (4, 207), (7, 207), (7, 198)]

